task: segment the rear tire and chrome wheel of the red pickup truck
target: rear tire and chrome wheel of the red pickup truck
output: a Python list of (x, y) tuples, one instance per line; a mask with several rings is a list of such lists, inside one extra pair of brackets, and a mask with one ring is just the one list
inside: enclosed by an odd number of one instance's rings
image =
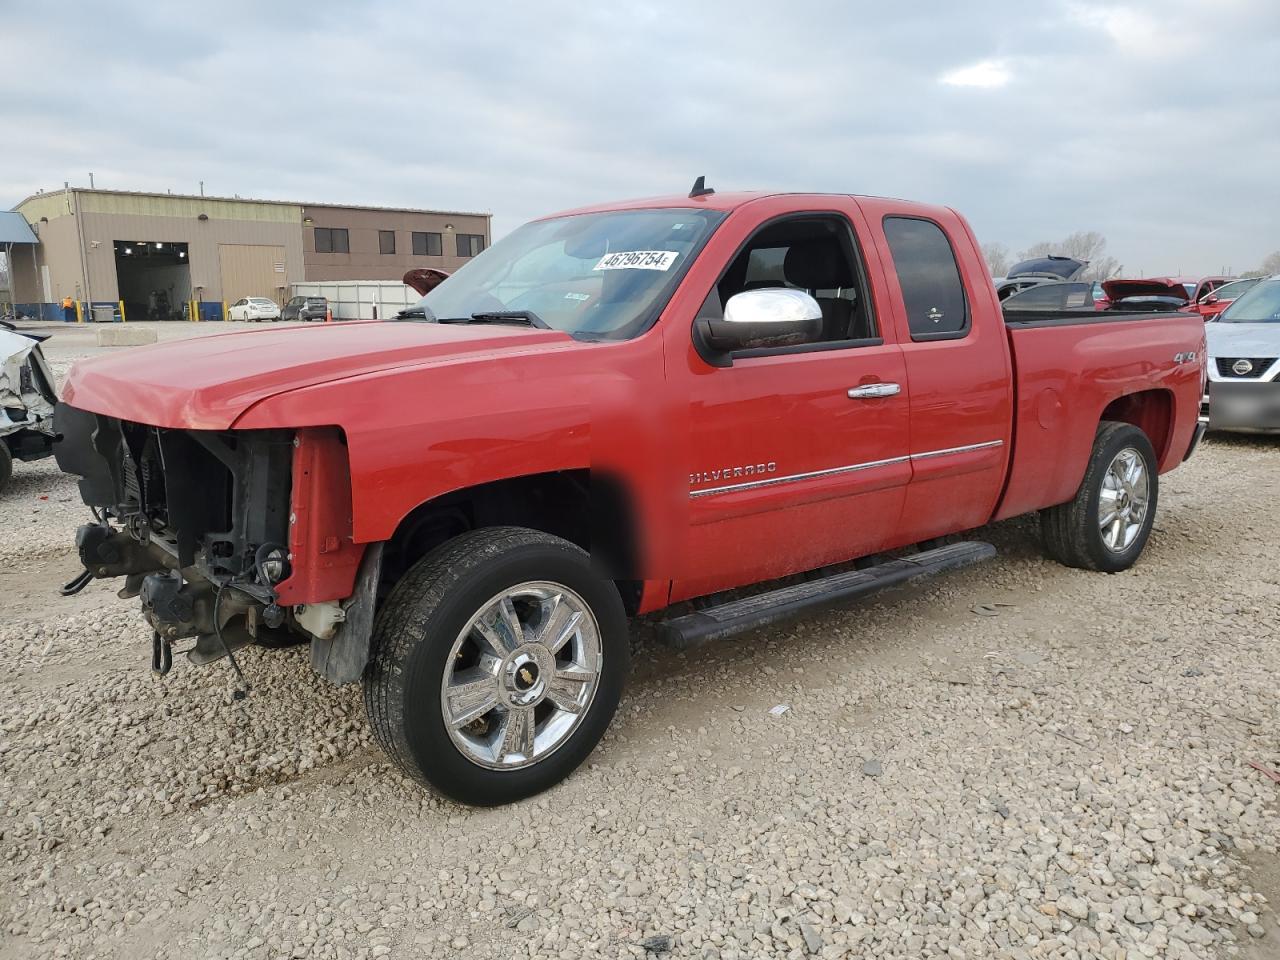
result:
[(1044, 552), (1059, 563), (1116, 573), (1142, 556), (1160, 498), (1156, 452), (1132, 424), (1102, 421), (1080, 489), (1041, 511)]

